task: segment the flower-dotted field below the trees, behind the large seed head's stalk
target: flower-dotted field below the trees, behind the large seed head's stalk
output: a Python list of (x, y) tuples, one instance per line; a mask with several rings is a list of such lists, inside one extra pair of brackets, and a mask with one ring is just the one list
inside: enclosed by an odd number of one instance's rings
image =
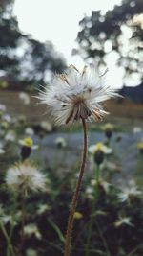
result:
[[(0, 92), (0, 256), (62, 256), (82, 128), (54, 127), (24, 95)], [(106, 105), (110, 115), (88, 124), (72, 256), (142, 256), (143, 105)]]

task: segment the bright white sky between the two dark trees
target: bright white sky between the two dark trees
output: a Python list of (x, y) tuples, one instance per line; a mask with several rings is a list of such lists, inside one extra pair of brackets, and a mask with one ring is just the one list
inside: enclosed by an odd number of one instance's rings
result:
[[(92, 10), (105, 12), (119, 3), (120, 0), (15, 0), (14, 14), (23, 32), (41, 41), (51, 40), (55, 49), (63, 53), (67, 63), (72, 63), (80, 69), (84, 65), (83, 60), (80, 57), (72, 57), (79, 21), (84, 14), (90, 15)], [(113, 86), (120, 86), (123, 72), (115, 67), (115, 59), (112, 60), (108, 66), (109, 80)]]

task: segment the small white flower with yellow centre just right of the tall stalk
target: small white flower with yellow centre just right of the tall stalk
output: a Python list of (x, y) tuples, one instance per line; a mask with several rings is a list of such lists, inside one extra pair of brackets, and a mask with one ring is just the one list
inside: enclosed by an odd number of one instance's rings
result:
[(103, 143), (98, 142), (94, 145), (91, 145), (88, 149), (88, 151), (92, 154), (94, 154), (96, 151), (103, 151), (104, 154), (110, 154), (112, 153), (112, 149), (105, 146)]

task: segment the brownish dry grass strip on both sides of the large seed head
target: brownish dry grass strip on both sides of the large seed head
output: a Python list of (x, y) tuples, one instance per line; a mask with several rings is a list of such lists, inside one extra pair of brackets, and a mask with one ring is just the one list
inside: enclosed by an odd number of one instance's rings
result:
[[(48, 116), (45, 115), (45, 106), (38, 104), (38, 99), (35, 99), (33, 95), (30, 94), (31, 104), (24, 105), (19, 99), (19, 92), (1, 90), (0, 91), (0, 104), (7, 105), (8, 112), (11, 114), (25, 114), (28, 121), (37, 122), (41, 120), (47, 120)], [(118, 118), (125, 121), (128, 119), (128, 123), (141, 122), (143, 120), (143, 105), (135, 105), (129, 100), (110, 100), (105, 104), (106, 110), (108, 110), (111, 115), (107, 118), (107, 121), (116, 120)], [(126, 123), (126, 122), (125, 122)]]

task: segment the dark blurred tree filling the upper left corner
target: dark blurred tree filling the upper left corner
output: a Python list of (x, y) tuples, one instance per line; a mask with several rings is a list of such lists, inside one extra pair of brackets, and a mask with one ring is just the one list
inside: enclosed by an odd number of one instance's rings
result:
[(42, 43), (20, 32), (12, 8), (13, 1), (1, 1), (0, 79), (7, 79), (11, 88), (44, 85), (48, 75), (65, 69), (66, 61), (54, 50), (51, 42)]

